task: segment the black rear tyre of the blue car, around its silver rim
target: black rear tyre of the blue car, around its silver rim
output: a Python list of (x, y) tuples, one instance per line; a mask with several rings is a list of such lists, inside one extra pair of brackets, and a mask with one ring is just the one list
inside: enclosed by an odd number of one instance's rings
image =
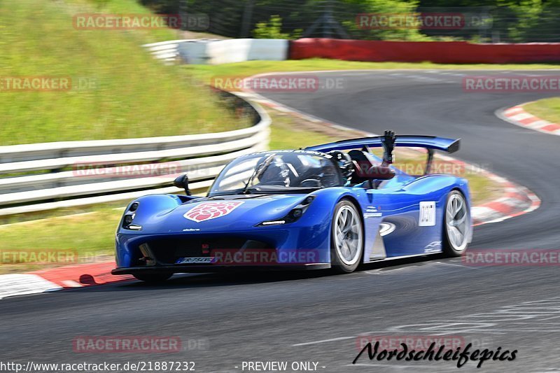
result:
[[(456, 204), (457, 203), (456, 201), (461, 201), (463, 206), (465, 206), (463, 213), (459, 214), (460, 216), (458, 216), (460, 219), (464, 218), (466, 222), (464, 231), (462, 232), (463, 239), (461, 240), (450, 237), (451, 234), (449, 234), (449, 228), (448, 228), (449, 221), (451, 219), (457, 221), (454, 218), (450, 218), (448, 213), (448, 208), (450, 207), (449, 204)], [(445, 201), (445, 207), (444, 207), (444, 218), (443, 218), (443, 227), (442, 227), (444, 255), (450, 257), (457, 257), (463, 255), (463, 253), (465, 253), (465, 250), (467, 249), (468, 246), (471, 229), (472, 227), (470, 227), (470, 209), (468, 208), (468, 204), (465, 199), (465, 196), (463, 195), (463, 193), (459, 192), (458, 190), (451, 190), (451, 192), (449, 192), (449, 195), (447, 195), (447, 200)], [(458, 232), (461, 232), (461, 230), (458, 229)], [(458, 242), (461, 242), (461, 244), (458, 244)]]

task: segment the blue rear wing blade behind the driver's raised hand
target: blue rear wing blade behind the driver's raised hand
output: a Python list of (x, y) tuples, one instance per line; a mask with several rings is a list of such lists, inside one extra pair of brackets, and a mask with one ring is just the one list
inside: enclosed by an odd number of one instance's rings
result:
[[(318, 152), (329, 152), (330, 150), (356, 149), (367, 146), (369, 148), (381, 148), (384, 146), (386, 136), (363, 137), (361, 139), (341, 140), (334, 143), (324, 143), (322, 145), (309, 146), (305, 150)], [(407, 146), (410, 148), (427, 148), (441, 150), (446, 153), (455, 153), (459, 150), (461, 139), (445, 139), (436, 136), (416, 136), (416, 135), (394, 135), (394, 146)]]

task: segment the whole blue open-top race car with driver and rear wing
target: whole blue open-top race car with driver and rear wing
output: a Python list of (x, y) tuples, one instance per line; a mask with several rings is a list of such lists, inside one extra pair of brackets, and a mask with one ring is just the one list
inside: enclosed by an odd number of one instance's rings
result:
[[(395, 146), (426, 148), (423, 175), (391, 166)], [(384, 148), (376, 157), (370, 148)], [(223, 269), (327, 269), (463, 253), (472, 239), (468, 182), (430, 174), (434, 150), (459, 140), (384, 136), (244, 155), (206, 197), (146, 195), (116, 233), (117, 268), (143, 281)]]

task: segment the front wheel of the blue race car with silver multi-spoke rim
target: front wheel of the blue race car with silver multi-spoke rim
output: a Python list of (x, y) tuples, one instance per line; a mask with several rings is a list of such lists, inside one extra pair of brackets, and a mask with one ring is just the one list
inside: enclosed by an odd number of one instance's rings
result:
[(353, 272), (362, 259), (363, 225), (356, 206), (346, 199), (337, 203), (331, 224), (330, 263), (336, 272)]

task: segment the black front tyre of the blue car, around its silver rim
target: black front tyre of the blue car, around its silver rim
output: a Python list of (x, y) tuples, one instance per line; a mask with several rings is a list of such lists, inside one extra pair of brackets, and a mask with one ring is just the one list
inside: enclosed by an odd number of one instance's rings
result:
[[(344, 211), (346, 211), (346, 213), (353, 214), (353, 222), (355, 222), (357, 226), (352, 224), (349, 231), (344, 233), (344, 239), (337, 239), (337, 234), (343, 234), (342, 230), (338, 233), (339, 231), (337, 230), (337, 226), (339, 223), (337, 220), (340, 218), (342, 221), (343, 216), (341, 214), (344, 214)], [(348, 216), (346, 216), (346, 218), (348, 218)], [(354, 242), (355, 240), (358, 241)], [(337, 242), (344, 241), (346, 241), (346, 246), (343, 244), (342, 247), (339, 246), (337, 248)], [(347, 199), (342, 199), (342, 201), (338, 202), (335, 206), (335, 212), (332, 214), (332, 223), (330, 225), (330, 243), (330, 265), (335, 272), (351, 273), (358, 268), (363, 258), (363, 221), (360, 211)], [(352, 245), (352, 248), (356, 248), (356, 251), (352, 250), (350, 244)], [(346, 253), (346, 248), (348, 249), (347, 253), (349, 255), (344, 258), (343, 252)]]

